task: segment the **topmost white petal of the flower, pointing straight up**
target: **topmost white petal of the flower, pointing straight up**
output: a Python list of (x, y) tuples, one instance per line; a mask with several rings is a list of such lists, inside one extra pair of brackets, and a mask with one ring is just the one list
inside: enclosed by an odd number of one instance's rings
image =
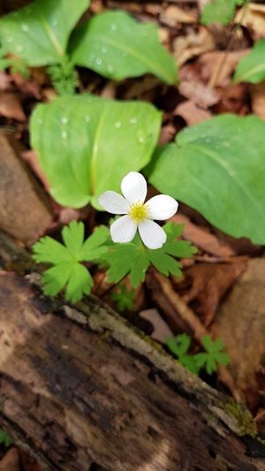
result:
[(126, 200), (144, 202), (148, 192), (146, 179), (138, 171), (130, 171), (121, 182), (121, 191)]

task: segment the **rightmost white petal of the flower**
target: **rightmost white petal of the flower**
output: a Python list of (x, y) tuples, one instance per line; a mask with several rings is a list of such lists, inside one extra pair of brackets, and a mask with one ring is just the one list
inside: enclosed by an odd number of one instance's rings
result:
[(147, 201), (145, 206), (148, 207), (148, 217), (163, 221), (177, 213), (178, 201), (167, 194), (158, 194)]

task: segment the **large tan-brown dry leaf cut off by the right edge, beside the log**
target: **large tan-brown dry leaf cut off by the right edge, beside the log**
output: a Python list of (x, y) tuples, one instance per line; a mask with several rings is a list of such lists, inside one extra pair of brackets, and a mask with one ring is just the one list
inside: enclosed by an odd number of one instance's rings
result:
[[(218, 309), (214, 333), (231, 357), (234, 382), (254, 410), (260, 400), (256, 374), (265, 355), (265, 259), (249, 260), (245, 273)], [(222, 379), (222, 376), (221, 376)]]

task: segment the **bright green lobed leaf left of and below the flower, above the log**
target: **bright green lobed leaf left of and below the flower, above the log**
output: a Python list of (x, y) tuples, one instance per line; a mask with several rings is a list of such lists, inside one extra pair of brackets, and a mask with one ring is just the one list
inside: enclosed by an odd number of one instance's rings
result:
[(99, 227), (84, 242), (84, 224), (72, 221), (62, 231), (64, 244), (46, 236), (33, 247), (35, 262), (48, 262), (53, 266), (42, 275), (43, 292), (55, 296), (65, 287), (65, 299), (73, 303), (83, 294), (89, 294), (93, 278), (80, 262), (93, 261), (102, 256), (108, 247), (104, 245), (109, 238), (106, 227)]

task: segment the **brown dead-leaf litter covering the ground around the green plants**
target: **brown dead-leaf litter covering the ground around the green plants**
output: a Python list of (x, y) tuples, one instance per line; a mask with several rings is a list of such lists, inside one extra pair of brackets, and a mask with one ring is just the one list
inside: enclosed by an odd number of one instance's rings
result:
[[(253, 4), (241, 24), (239, 11), (237, 24), (205, 27), (199, 22), (202, 4), (203, 0), (94, 0), (87, 15), (119, 8), (140, 21), (155, 22), (163, 45), (178, 61), (179, 84), (178, 87), (169, 87), (151, 75), (118, 82), (105, 80), (87, 69), (79, 69), (79, 91), (118, 100), (154, 103), (158, 110), (163, 111), (160, 144), (173, 141), (176, 133), (186, 126), (201, 123), (220, 113), (232, 112), (239, 116), (255, 113), (265, 119), (264, 83), (233, 84), (231, 80), (239, 59), (246, 55), (254, 41), (264, 37), (265, 6)], [(7, 12), (8, 7), (3, 6), (2, 10)], [(0, 160), (5, 158), (5, 151), (17, 155), (19, 145), (23, 171), (25, 168), (29, 171), (28, 179), (32, 179), (31, 174), (34, 174), (45, 191), (50, 208), (47, 213), (46, 203), (33, 199), (31, 212), (37, 215), (34, 228), (27, 221), (23, 224), (17, 221), (19, 208), (16, 209), (17, 214), (6, 213), (5, 220), (0, 221), (0, 228), (6, 227), (7, 220), (12, 221), (10, 233), (20, 240), (34, 242), (44, 233), (59, 239), (62, 225), (72, 219), (83, 220), (87, 233), (102, 222), (102, 216), (95, 215), (94, 209), (64, 208), (52, 200), (38, 156), (30, 148), (29, 116), (37, 103), (48, 102), (55, 96), (49, 76), (42, 69), (31, 70), (27, 79), (9, 71), (0, 72), (0, 130), (11, 137), (8, 150), (4, 150), (3, 145), (0, 151), (3, 154)], [(18, 171), (21, 162), (11, 161), (11, 171), (17, 175), (17, 189), (1, 181), (0, 196), (8, 192), (8, 197), (12, 198), (14, 191), (24, 191), (24, 173)], [(181, 278), (166, 278), (149, 272), (146, 282), (135, 292), (133, 308), (121, 315), (166, 349), (167, 338), (183, 332), (192, 337), (191, 353), (200, 350), (201, 332), (212, 338), (222, 338), (225, 352), (230, 356), (229, 365), (218, 368), (214, 375), (203, 373), (201, 377), (219, 391), (246, 403), (261, 436), (264, 436), (264, 250), (249, 239), (234, 239), (216, 230), (198, 212), (184, 204), (180, 204), (172, 219), (176, 223), (184, 223), (183, 238), (198, 248), (197, 254), (192, 259), (181, 261), (184, 267)], [(117, 308), (112, 298), (117, 287), (107, 283), (104, 270), (95, 271), (94, 281), (95, 295), (112, 308)], [(130, 289), (128, 279), (125, 279), (125, 285)], [(2, 452), (4, 458), (0, 460), (0, 470), (17, 470), (19, 462), (20, 469), (25, 471), (38, 469), (25, 453), (16, 448), (11, 447), (6, 453), (3, 446)]]

